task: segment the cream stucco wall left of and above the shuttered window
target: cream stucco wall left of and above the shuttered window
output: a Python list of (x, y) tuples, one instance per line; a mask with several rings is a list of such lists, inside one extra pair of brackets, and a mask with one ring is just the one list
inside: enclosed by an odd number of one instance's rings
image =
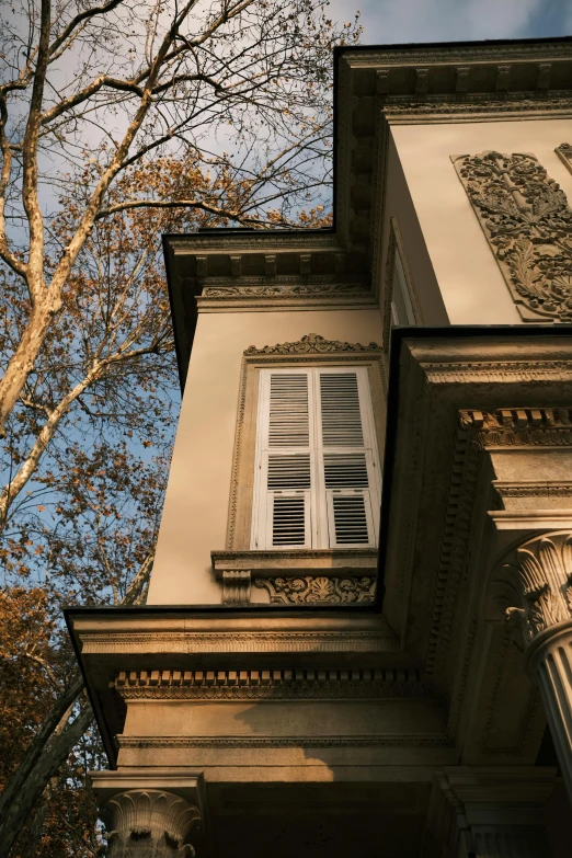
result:
[(242, 353), (310, 332), (380, 342), (380, 314), (369, 309), (199, 316), (148, 604), (220, 604), (210, 551), (226, 547)]

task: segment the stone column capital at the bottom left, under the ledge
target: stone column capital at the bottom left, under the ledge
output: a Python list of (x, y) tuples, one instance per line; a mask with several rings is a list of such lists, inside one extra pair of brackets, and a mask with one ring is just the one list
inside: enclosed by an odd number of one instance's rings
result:
[(191, 831), (198, 808), (161, 789), (130, 789), (108, 799), (101, 810), (108, 830), (110, 858), (193, 858)]

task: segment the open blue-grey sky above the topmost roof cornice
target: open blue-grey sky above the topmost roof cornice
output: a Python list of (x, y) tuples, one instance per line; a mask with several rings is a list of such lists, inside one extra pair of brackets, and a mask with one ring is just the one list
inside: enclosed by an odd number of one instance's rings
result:
[(359, 10), (362, 44), (572, 35), (572, 0), (331, 0), (339, 21)]

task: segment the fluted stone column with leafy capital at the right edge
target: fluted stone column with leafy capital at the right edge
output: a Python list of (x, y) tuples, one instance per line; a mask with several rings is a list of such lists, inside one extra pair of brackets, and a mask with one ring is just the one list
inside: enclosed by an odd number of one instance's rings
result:
[[(497, 582), (499, 583), (499, 582)], [(504, 608), (519, 622), (572, 800), (572, 531), (522, 544), (502, 565)]]

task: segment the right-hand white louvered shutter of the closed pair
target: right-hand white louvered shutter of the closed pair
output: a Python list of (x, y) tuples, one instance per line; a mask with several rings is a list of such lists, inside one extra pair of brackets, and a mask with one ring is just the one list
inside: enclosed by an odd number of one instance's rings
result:
[(318, 382), (319, 482), (330, 548), (375, 546), (379, 466), (367, 370), (320, 369)]

